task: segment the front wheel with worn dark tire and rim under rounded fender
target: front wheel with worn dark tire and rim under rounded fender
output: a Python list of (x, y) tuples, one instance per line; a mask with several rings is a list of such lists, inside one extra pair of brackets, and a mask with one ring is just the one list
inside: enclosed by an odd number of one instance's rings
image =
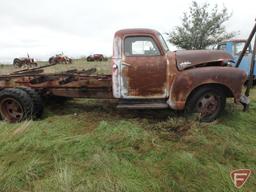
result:
[(212, 122), (223, 112), (226, 95), (218, 87), (201, 87), (195, 90), (186, 104), (186, 112), (199, 113), (200, 121)]

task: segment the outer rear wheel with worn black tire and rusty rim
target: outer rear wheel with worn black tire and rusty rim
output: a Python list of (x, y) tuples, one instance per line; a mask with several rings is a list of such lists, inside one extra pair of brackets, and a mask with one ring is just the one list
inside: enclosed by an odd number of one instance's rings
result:
[(14, 88), (0, 91), (0, 114), (3, 120), (16, 123), (31, 119), (32, 111), (33, 101), (25, 91)]

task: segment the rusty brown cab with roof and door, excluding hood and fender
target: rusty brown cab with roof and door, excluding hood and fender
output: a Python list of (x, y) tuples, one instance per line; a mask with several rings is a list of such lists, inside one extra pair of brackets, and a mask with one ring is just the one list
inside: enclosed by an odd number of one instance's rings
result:
[(168, 47), (154, 30), (116, 33), (113, 54), (113, 94), (123, 99), (161, 99), (167, 93)]

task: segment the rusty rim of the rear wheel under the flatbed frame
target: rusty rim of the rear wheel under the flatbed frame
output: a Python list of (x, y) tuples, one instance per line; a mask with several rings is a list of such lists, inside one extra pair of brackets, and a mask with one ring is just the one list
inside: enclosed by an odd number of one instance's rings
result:
[(0, 110), (3, 118), (9, 122), (21, 121), (24, 110), (20, 103), (14, 98), (5, 98), (0, 103)]

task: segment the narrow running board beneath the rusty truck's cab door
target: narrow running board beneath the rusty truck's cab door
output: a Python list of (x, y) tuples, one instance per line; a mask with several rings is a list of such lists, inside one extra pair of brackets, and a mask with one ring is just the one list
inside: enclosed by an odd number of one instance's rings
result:
[(134, 104), (119, 104), (118, 109), (166, 109), (169, 108), (167, 103), (134, 103)]

